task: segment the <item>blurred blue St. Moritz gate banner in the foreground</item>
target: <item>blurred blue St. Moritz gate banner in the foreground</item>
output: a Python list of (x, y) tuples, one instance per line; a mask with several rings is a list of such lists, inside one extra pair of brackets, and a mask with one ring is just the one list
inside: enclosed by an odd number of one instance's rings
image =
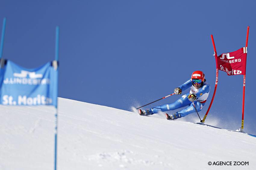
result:
[(48, 62), (27, 69), (8, 60), (0, 70), (0, 104), (57, 106), (58, 69)]

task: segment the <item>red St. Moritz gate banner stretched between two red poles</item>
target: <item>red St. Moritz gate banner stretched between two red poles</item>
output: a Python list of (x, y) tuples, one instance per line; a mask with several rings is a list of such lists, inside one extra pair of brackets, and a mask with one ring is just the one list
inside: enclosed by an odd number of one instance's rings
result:
[(228, 76), (245, 75), (247, 47), (234, 52), (223, 53), (217, 57), (218, 69), (225, 71)]

